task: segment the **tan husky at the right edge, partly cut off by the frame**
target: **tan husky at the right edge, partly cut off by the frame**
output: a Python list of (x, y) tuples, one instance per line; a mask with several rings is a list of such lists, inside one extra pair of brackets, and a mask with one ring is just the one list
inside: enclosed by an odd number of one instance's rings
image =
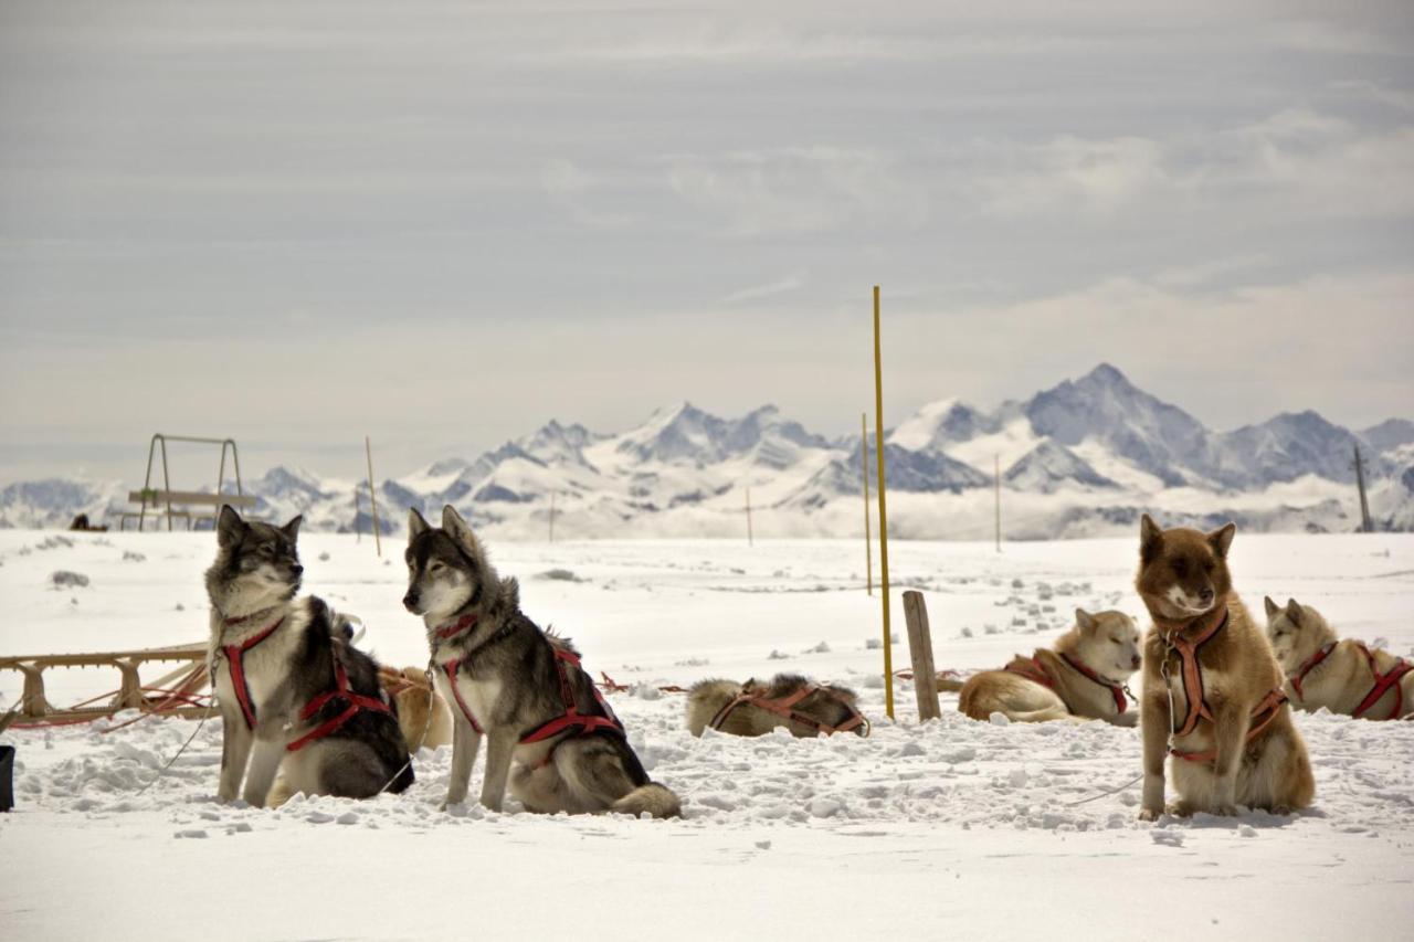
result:
[(1267, 638), (1287, 675), (1287, 696), (1302, 710), (1325, 707), (1366, 720), (1414, 714), (1414, 663), (1359, 641), (1340, 641), (1311, 605), (1267, 603)]

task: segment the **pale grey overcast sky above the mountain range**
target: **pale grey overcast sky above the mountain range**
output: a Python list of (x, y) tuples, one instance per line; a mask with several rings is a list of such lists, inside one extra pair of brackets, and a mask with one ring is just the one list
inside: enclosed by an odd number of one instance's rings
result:
[(0, 0), (0, 479), (843, 434), (874, 283), (888, 421), (1103, 359), (1363, 427), (1414, 417), (1411, 249), (1407, 0)]

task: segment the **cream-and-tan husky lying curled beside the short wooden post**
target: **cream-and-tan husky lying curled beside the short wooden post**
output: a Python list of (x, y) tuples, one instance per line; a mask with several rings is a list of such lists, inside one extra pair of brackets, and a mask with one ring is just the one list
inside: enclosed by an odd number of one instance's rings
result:
[(974, 720), (1001, 713), (1018, 723), (1106, 720), (1135, 726), (1124, 685), (1140, 669), (1140, 631), (1120, 611), (1075, 610), (1075, 627), (1055, 648), (1017, 655), (1001, 670), (984, 670), (963, 685), (957, 709)]

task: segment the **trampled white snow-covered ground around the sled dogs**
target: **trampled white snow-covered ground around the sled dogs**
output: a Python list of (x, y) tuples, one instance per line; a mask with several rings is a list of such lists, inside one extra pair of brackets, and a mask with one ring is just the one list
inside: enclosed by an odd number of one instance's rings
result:
[[(940, 668), (997, 666), (1046, 644), (1077, 604), (1141, 614), (1134, 540), (889, 549), (895, 588), (928, 597)], [(308, 590), (361, 615), (366, 646), (426, 662), (399, 603), (400, 540), (382, 560), (345, 535), (310, 533), (301, 552)], [(652, 775), (684, 796), (684, 820), (440, 813), (445, 750), (417, 757), (402, 796), (228, 808), (214, 801), (219, 719), (141, 795), (197, 721), (11, 730), (6, 938), (1290, 941), (1403, 938), (1414, 925), (1414, 723), (1298, 714), (1319, 793), (1294, 819), (1140, 825), (1137, 786), (1103, 795), (1138, 774), (1134, 730), (974, 723), (950, 696), (942, 721), (919, 726), (906, 683), (898, 723), (885, 720), (882, 652), (865, 646), (880, 636), (878, 597), (864, 593), (858, 542), (492, 552), (520, 577), (526, 611), (573, 636), (590, 669), (642, 685), (614, 706)], [(209, 533), (0, 532), (0, 653), (198, 641), (212, 553)], [(1414, 536), (1239, 535), (1233, 553), (1256, 611), (1263, 594), (1295, 595), (1343, 634), (1414, 653)], [(54, 588), (58, 570), (89, 584)], [(894, 658), (908, 666), (906, 646)], [(782, 669), (857, 687), (874, 734), (696, 740), (682, 696), (656, 690)], [(62, 704), (116, 676), (49, 672), (47, 685)], [(0, 704), (18, 693), (18, 675), (0, 672)]]

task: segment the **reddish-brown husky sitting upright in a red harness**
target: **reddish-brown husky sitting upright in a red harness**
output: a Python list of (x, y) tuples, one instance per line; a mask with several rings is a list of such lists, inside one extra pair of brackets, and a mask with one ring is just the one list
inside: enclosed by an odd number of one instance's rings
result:
[(1311, 760), (1291, 721), (1282, 673), (1232, 587), (1233, 523), (1199, 533), (1140, 525), (1135, 587), (1154, 620), (1144, 639), (1141, 820), (1164, 813), (1164, 761), (1174, 755), (1172, 812), (1278, 815), (1315, 796)]

